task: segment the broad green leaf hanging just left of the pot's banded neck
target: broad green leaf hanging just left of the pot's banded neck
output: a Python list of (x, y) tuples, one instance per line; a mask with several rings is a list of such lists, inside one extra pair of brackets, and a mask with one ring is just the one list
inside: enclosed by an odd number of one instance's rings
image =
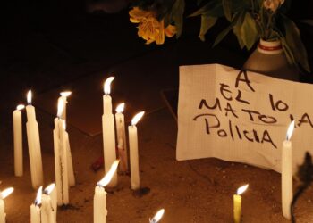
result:
[(257, 42), (259, 38), (256, 21), (254, 21), (250, 12), (245, 13), (245, 17), (239, 33), (243, 44), (247, 47), (248, 50), (250, 50), (250, 48)]

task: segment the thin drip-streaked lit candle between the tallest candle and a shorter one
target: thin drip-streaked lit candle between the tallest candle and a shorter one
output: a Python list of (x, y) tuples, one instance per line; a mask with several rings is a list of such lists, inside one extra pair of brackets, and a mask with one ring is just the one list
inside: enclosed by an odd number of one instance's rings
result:
[(126, 144), (126, 132), (125, 132), (125, 120), (124, 111), (125, 103), (120, 103), (115, 111), (115, 125), (116, 125), (116, 138), (117, 138), (117, 149), (120, 163), (120, 170), (122, 172), (128, 171), (128, 161), (127, 161), (127, 144)]

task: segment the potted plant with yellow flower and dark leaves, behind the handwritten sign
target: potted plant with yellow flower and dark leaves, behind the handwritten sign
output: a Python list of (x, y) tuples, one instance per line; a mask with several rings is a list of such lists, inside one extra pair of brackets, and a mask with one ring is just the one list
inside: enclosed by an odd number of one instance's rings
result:
[[(286, 16), (292, 0), (198, 0), (199, 38), (216, 21), (225, 18), (229, 26), (217, 35), (214, 45), (231, 31), (241, 48), (258, 44), (243, 68), (274, 76), (296, 79), (297, 70), (309, 72), (308, 56), (296, 24)], [(165, 37), (180, 37), (185, 10), (184, 0), (138, 0), (130, 11), (131, 22), (139, 23), (138, 35), (147, 44), (163, 44)]]

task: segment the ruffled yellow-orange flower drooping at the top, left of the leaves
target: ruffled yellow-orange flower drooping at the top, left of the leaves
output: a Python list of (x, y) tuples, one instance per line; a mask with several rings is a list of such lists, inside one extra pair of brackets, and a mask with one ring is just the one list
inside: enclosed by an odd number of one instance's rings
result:
[(157, 21), (154, 12), (140, 10), (134, 7), (130, 12), (130, 21), (139, 23), (138, 36), (145, 39), (146, 44), (151, 44), (156, 41), (157, 45), (162, 45), (166, 37), (173, 37), (176, 34), (176, 29), (172, 25), (164, 26), (164, 20)]

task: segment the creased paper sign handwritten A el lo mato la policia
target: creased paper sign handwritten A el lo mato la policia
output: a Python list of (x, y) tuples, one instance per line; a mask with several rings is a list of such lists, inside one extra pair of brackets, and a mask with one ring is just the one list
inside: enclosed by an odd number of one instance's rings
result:
[(296, 169), (313, 153), (313, 85), (219, 64), (180, 67), (178, 161), (216, 157), (280, 172), (292, 120)]

